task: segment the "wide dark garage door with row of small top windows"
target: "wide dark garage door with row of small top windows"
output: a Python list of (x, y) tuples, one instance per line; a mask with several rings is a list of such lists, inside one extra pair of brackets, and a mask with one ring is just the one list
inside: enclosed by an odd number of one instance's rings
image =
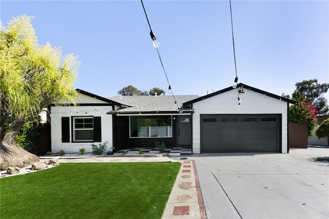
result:
[(281, 115), (200, 115), (201, 152), (280, 152)]

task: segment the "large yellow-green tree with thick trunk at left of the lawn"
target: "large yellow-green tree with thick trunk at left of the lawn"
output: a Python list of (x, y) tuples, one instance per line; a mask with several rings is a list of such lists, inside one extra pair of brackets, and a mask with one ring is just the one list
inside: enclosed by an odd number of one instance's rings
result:
[(75, 102), (72, 88), (80, 64), (73, 54), (38, 44), (31, 25), (22, 15), (4, 27), (0, 23), (0, 165), (24, 167), (39, 158), (20, 148), (15, 136), (28, 121), (40, 119), (51, 103)]

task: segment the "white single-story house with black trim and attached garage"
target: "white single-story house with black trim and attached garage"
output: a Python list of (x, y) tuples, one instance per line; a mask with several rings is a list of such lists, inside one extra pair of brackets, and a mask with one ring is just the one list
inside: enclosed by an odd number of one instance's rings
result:
[(151, 150), (155, 141), (193, 154), (288, 153), (288, 109), (296, 102), (242, 83), (203, 97), (77, 92), (77, 106), (50, 108), (53, 153), (92, 152), (91, 144), (104, 142), (107, 150)]

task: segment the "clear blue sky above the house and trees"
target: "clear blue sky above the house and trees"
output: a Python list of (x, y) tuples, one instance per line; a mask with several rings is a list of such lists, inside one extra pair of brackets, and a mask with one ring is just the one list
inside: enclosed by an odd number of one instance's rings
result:
[[(235, 78), (229, 1), (143, 1), (174, 95), (207, 94)], [(168, 82), (140, 1), (1, 1), (1, 21), (34, 16), (39, 44), (82, 60), (75, 88), (102, 97)], [(328, 1), (231, 1), (237, 76), (266, 92), (329, 82)], [(328, 94), (328, 93), (327, 93)], [(329, 99), (328, 95), (325, 95)]]

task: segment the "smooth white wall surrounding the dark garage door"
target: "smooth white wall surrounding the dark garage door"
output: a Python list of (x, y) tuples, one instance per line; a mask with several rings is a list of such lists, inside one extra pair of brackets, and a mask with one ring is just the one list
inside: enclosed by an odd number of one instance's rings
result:
[(193, 103), (194, 154), (200, 153), (200, 114), (281, 114), (282, 153), (287, 153), (287, 102), (251, 90), (246, 91), (246, 94), (240, 95), (242, 100), (240, 107), (236, 89)]

